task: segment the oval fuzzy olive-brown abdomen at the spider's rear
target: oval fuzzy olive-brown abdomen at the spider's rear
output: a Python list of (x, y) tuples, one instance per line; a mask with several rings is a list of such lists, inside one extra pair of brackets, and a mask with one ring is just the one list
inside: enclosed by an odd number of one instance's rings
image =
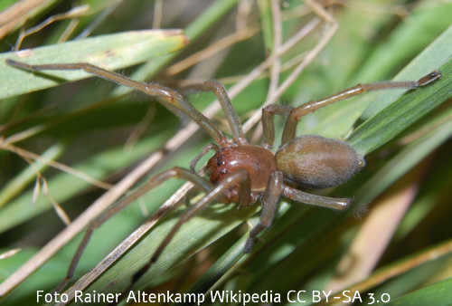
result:
[(365, 160), (344, 141), (306, 135), (278, 149), (278, 170), (301, 186), (338, 186), (365, 166)]

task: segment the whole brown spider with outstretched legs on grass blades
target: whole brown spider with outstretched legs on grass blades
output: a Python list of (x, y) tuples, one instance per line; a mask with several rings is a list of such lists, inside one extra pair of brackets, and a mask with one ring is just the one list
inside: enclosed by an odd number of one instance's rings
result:
[[(363, 156), (358, 154), (347, 143), (337, 139), (327, 139), (315, 135), (296, 137), (297, 122), (306, 114), (330, 105), (338, 100), (348, 99), (365, 91), (379, 91), (391, 88), (415, 89), (429, 84), (441, 77), (440, 72), (430, 72), (419, 81), (384, 81), (370, 84), (358, 84), (354, 87), (335, 93), (322, 100), (314, 100), (302, 104), (297, 108), (270, 104), (262, 110), (262, 125), (264, 142), (261, 146), (251, 145), (246, 139), (237, 113), (233, 110), (231, 100), (223, 85), (218, 81), (205, 81), (193, 85), (199, 91), (213, 91), (221, 103), (226, 120), (231, 128), (232, 138), (226, 138), (220, 129), (215, 128), (212, 122), (186, 100), (178, 91), (162, 86), (158, 83), (145, 83), (133, 81), (124, 75), (110, 72), (85, 62), (53, 63), (30, 65), (24, 62), (6, 60), (14, 67), (26, 71), (47, 70), (83, 70), (95, 76), (114, 81), (120, 85), (142, 91), (154, 96), (167, 109), (183, 112), (204, 129), (214, 140), (214, 144), (202, 149), (202, 152), (193, 158), (190, 168), (173, 167), (151, 177), (149, 181), (139, 187), (137, 192), (126, 196), (124, 200), (94, 220), (87, 230), (72, 263), (66, 278), (57, 287), (60, 291), (71, 279), (81, 253), (88, 243), (92, 231), (99, 227), (111, 215), (127, 206), (137, 197), (159, 186), (172, 177), (183, 178), (193, 183), (195, 187), (205, 193), (197, 203), (190, 206), (180, 219), (174, 224), (165, 239), (159, 244), (148, 263), (137, 271), (132, 277), (129, 289), (142, 277), (155, 263), (170, 243), (182, 225), (198, 214), (214, 201), (223, 203), (237, 203), (240, 206), (250, 206), (257, 202), (262, 205), (259, 224), (250, 230), (250, 236), (245, 243), (244, 252), (250, 253), (257, 235), (270, 226), (277, 212), (279, 198), (286, 197), (294, 202), (313, 206), (323, 206), (336, 210), (344, 210), (351, 204), (350, 198), (318, 196), (300, 190), (300, 187), (325, 188), (339, 186), (353, 177), (365, 166)], [(272, 151), (275, 131), (273, 118), (275, 115), (287, 116), (283, 130), (281, 146)], [(214, 150), (209, 159), (206, 170), (209, 179), (195, 172), (197, 162)]]

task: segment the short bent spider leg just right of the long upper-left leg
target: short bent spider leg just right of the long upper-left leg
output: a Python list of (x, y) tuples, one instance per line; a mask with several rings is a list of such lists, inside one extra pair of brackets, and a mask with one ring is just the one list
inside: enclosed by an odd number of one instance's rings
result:
[(228, 120), (234, 140), (240, 145), (248, 144), (245, 134), (243, 134), (243, 130), (241, 129), (239, 116), (232, 108), (228, 92), (224, 89), (224, 86), (220, 82), (215, 80), (204, 81), (199, 84), (189, 85), (187, 88), (193, 88), (197, 91), (212, 91), (220, 101), (221, 108), (224, 110), (224, 114), (226, 116), (226, 120)]

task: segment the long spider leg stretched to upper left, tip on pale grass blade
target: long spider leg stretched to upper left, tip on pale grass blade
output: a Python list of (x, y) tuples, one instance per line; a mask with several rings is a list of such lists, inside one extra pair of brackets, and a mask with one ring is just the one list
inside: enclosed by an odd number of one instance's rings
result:
[(162, 86), (157, 83), (146, 83), (140, 81), (134, 81), (126, 76), (117, 73), (109, 72), (103, 68), (92, 65), (87, 62), (75, 62), (75, 63), (51, 63), (43, 65), (30, 65), (25, 62), (17, 62), (11, 59), (6, 59), (6, 63), (14, 67), (24, 69), (27, 71), (45, 71), (45, 70), (83, 70), (89, 72), (99, 78), (113, 81), (119, 85), (124, 85), (133, 88), (137, 91), (142, 91), (149, 96), (155, 96), (157, 100), (163, 104), (168, 110), (176, 114), (180, 111), (184, 112), (185, 115), (189, 116), (193, 121), (195, 121), (202, 129), (204, 129), (212, 139), (218, 144), (226, 144), (228, 139), (222, 135), (221, 131), (212, 125), (212, 122), (207, 119), (202, 113), (196, 110), (192, 104), (184, 100), (184, 97), (177, 91), (170, 88)]

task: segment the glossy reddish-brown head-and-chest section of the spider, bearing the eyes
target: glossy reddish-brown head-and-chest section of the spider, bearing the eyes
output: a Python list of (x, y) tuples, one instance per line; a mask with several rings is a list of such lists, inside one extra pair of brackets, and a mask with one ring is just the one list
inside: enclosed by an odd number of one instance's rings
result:
[(234, 171), (245, 169), (250, 175), (251, 191), (263, 191), (270, 174), (277, 169), (275, 156), (266, 148), (238, 146), (221, 148), (207, 162), (211, 182), (217, 184)]

